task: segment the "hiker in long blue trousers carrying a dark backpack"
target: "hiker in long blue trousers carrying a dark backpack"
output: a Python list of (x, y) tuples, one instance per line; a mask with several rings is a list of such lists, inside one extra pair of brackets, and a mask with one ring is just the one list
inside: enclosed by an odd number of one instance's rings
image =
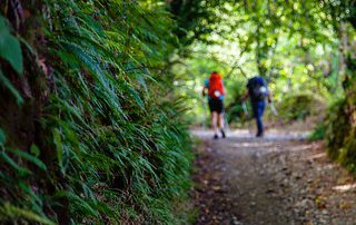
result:
[(263, 116), (266, 108), (266, 98), (268, 99), (268, 102), (271, 102), (270, 91), (268, 90), (267, 82), (263, 77), (256, 76), (248, 80), (246, 92), (243, 96), (243, 101), (245, 101), (247, 97), (250, 98), (254, 117), (256, 119), (256, 125), (257, 125), (256, 137), (263, 137), (264, 136)]

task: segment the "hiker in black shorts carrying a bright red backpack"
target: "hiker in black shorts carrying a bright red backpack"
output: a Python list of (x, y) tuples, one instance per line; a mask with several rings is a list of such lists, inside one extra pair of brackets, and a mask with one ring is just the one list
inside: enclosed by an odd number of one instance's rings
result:
[(202, 96), (206, 96), (206, 90), (208, 90), (208, 101), (209, 109), (211, 113), (211, 125), (214, 128), (214, 139), (219, 138), (218, 133), (220, 128), (221, 137), (225, 138), (224, 130), (224, 96), (225, 88), (222, 84), (221, 76), (212, 71), (209, 79), (205, 80), (202, 87)]

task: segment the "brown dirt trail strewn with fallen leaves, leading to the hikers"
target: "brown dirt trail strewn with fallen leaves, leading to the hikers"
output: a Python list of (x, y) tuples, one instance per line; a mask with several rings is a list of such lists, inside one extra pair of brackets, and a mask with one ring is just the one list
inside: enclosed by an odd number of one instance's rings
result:
[(356, 224), (356, 179), (305, 134), (192, 134), (202, 140), (191, 192), (196, 224)]

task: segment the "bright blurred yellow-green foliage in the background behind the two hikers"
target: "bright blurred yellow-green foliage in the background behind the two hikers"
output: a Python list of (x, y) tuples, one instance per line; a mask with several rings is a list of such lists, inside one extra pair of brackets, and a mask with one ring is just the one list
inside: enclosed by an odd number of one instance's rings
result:
[[(313, 115), (322, 107), (320, 101), (324, 105), (332, 96), (340, 95), (337, 33), (320, 2), (172, 1), (171, 4), (184, 20), (180, 23), (187, 25), (182, 39), (194, 39), (187, 42), (180, 58), (177, 56), (180, 63), (174, 70), (181, 75), (176, 81), (194, 97), (189, 101), (191, 121), (201, 124), (208, 118), (207, 109), (201, 107), (200, 91), (211, 70), (226, 76), (225, 105), (229, 121), (249, 119), (244, 115), (240, 97), (247, 79), (255, 75), (266, 78), (286, 120)], [(187, 4), (195, 8), (186, 8)], [(192, 13), (195, 10), (199, 12)], [(188, 16), (191, 17), (187, 19)], [(194, 28), (189, 28), (191, 23)], [(298, 96), (288, 95), (306, 90), (320, 100), (299, 102)]]

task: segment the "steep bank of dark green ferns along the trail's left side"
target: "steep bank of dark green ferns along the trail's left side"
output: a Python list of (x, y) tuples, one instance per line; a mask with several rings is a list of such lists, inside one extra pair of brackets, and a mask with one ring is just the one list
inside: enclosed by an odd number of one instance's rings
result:
[(189, 208), (177, 208), (190, 137), (160, 1), (10, 3), (0, 3), (0, 221), (187, 223)]

